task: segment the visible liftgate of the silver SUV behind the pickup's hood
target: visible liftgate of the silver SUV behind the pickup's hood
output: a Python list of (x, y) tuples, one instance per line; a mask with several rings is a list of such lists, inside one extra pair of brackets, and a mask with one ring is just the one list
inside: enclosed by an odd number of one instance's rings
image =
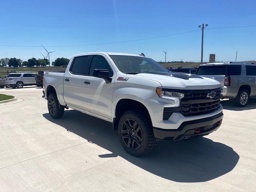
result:
[(227, 65), (200, 66), (196, 72), (197, 75), (212, 78), (224, 86), (225, 75), (227, 74)]

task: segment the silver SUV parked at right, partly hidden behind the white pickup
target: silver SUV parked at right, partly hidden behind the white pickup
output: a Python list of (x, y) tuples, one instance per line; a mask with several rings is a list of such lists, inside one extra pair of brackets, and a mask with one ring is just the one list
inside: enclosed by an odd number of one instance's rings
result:
[(220, 82), (223, 87), (223, 98), (234, 99), (235, 106), (244, 107), (249, 97), (256, 96), (256, 64), (241, 62), (202, 64), (196, 74)]

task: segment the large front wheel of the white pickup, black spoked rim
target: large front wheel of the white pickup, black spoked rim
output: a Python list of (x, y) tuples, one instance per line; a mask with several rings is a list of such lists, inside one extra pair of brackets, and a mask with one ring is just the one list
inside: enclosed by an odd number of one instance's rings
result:
[(133, 156), (142, 156), (156, 148), (150, 117), (143, 111), (129, 110), (118, 123), (118, 135), (122, 147)]

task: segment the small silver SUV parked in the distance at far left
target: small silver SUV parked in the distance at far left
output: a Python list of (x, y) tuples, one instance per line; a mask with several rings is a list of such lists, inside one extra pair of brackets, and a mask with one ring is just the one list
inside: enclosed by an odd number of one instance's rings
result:
[(35, 76), (34, 73), (10, 73), (5, 79), (5, 86), (22, 88), (23, 86), (37, 85)]

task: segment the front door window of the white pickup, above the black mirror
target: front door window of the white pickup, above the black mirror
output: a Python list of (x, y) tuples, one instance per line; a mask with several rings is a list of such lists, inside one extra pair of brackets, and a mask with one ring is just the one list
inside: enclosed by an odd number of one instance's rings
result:
[(94, 69), (107, 69), (109, 71), (110, 76), (113, 73), (106, 59), (100, 55), (93, 56), (89, 75), (93, 74)]

